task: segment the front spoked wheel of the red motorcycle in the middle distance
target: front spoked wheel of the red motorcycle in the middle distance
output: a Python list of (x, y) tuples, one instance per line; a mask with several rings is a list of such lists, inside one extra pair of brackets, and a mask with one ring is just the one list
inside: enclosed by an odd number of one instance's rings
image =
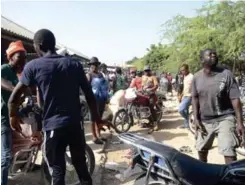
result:
[(120, 109), (113, 117), (112, 124), (115, 131), (118, 134), (128, 132), (133, 125), (134, 119), (131, 114), (128, 114), (127, 110)]

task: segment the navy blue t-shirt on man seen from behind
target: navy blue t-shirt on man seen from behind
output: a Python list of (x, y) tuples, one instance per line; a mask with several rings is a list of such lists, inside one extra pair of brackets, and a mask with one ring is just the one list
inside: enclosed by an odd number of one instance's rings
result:
[(79, 90), (91, 89), (81, 63), (56, 54), (34, 59), (25, 66), (20, 82), (39, 89), (44, 131), (80, 124)]

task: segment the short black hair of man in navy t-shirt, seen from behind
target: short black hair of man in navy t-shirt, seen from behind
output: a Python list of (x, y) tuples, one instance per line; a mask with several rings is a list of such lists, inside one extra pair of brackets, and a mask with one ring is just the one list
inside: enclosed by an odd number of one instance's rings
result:
[(43, 51), (55, 50), (56, 39), (54, 34), (48, 29), (38, 30), (33, 39), (34, 43), (40, 45)]

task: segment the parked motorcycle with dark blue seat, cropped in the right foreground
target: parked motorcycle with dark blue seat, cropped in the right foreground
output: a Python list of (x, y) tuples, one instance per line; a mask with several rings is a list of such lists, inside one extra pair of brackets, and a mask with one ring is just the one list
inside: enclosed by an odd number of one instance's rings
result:
[(208, 164), (136, 134), (118, 137), (134, 147), (132, 168), (137, 165), (142, 169), (135, 185), (245, 184), (245, 159), (229, 165)]

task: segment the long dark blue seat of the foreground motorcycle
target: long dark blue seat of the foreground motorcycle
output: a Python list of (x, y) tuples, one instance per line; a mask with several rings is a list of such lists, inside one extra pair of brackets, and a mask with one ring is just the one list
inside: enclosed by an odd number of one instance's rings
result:
[[(156, 143), (141, 140), (138, 144), (152, 154), (165, 158), (176, 177), (184, 184), (191, 185), (215, 185), (224, 174), (227, 165), (208, 164), (179, 152), (178, 150)], [(139, 148), (141, 148), (139, 146)]]

